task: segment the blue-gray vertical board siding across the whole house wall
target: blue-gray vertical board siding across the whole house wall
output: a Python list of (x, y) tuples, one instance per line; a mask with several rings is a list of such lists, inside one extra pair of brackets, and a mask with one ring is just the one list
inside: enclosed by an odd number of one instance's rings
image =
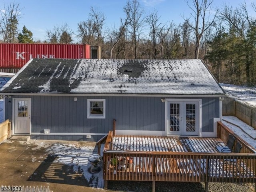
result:
[[(161, 97), (12, 96), (14, 97), (31, 98), (33, 133), (43, 133), (44, 129), (50, 129), (51, 133), (106, 134), (112, 130), (113, 119), (116, 119), (117, 130), (165, 131), (165, 104), (161, 102)], [(78, 100), (74, 101), (74, 97)], [(12, 98), (6, 99), (6, 119), (10, 120)], [(106, 99), (105, 119), (87, 118), (87, 99)], [(202, 132), (213, 131), (213, 118), (219, 118), (219, 98), (202, 98)]]

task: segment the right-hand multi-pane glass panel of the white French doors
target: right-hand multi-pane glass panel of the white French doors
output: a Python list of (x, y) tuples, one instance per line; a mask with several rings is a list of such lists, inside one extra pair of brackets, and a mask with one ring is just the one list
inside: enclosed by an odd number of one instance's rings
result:
[(196, 104), (186, 104), (186, 132), (196, 131)]

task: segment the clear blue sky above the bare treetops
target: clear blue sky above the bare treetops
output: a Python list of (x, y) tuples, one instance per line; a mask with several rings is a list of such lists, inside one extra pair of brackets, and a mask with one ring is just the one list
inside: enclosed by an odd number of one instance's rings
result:
[[(126, 0), (1, 0), (0, 10), (3, 9), (3, 2), (9, 4), (15, 1), (22, 8), (22, 18), (19, 28), (25, 25), (28, 30), (33, 32), (34, 40), (45, 40), (46, 29), (52, 29), (56, 25), (67, 23), (76, 33), (77, 24), (88, 18), (90, 6), (97, 8), (106, 16), (106, 26), (119, 26), (120, 18), (124, 17), (123, 7)], [(166, 23), (168, 20), (174, 23), (184, 22), (182, 15), (186, 18), (190, 16), (191, 10), (185, 0), (139, 0), (145, 13), (158, 10), (161, 21)], [(233, 7), (246, 2), (247, 6), (256, 0), (214, 0), (213, 9), (228, 4)], [(256, 15), (250, 11), (250, 14)]]

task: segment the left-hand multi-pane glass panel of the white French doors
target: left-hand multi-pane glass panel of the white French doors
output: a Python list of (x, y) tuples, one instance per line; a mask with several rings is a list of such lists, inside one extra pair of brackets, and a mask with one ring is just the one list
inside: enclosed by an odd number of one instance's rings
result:
[(170, 131), (180, 131), (180, 104), (170, 104)]

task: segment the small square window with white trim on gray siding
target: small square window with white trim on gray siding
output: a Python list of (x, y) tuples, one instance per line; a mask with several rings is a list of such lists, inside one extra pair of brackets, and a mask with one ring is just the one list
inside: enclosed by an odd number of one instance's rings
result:
[(88, 99), (87, 100), (87, 118), (104, 119), (106, 112), (105, 99)]

